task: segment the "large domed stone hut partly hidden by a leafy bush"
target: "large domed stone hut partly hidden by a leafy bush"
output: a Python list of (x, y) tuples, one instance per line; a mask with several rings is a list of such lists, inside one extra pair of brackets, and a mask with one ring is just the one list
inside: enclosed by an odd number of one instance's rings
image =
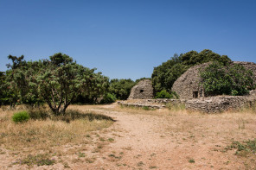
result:
[[(256, 82), (256, 64), (253, 62), (233, 62), (245, 66), (246, 69), (252, 70), (254, 80)], [(197, 66), (192, 66), (187, 72), (184, 72), (173, 84), (171, 91), (176, 91), (181, 99), (204, 98), (204, 91), (199, 85), (201, 78), (199, 75), (200, 70), (205, 69), (210, 62)]]

